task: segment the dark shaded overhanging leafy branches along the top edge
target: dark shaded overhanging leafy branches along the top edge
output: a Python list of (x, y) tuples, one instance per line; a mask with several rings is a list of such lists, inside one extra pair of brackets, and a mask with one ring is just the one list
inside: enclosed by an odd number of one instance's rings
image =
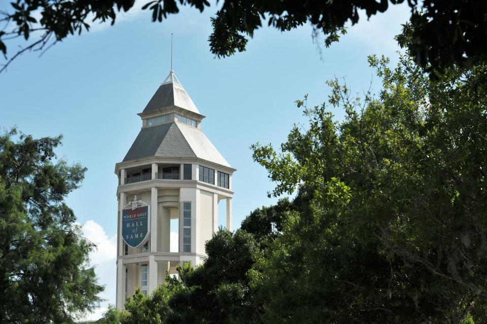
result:
[[(153, 21), (162, 21), (177, 14), (181, 6), (195, 7), (202, 12), (210, 3), (206, 0), (146, 0), (144, 9), (152, 11)], [(404, 0), (391, 0), (391, 4)], [(487, 4), (473, 0), (408, 0), (410, 22), (404, 25), (398, 37), (399, 44), (407, 47), (424, 67), (442, 71), (451, 65), (471, 66), (485, 60), (483, 41), (487, 35)], [(62, 41), (69, 34), (88, 31), (91, 22), (115, 22), (116, 9), (130, 10), (134, 0), (16, 0), (12, 10), (0, 12), (0, 50), (7, 54), (5, 41), (23, 37), (26, 41), (33, 32), (40, 34), (32, 43), (20, 49), (4, 65), (25, 51), (42, 51)], [(309, 22), (313, 35), (323, 33), (328, 47), (346, 32), (346, 24), (359, 22), (359, 11), (367, 18), (385, 12), (387, 0), (342, 1), (241, 1), (225, 0), (212, 17), (210, 35), (211, 52), (218, 57), (233, 55), (246, 49), (249, 37), (264, 24), (281, 31), (291, 30)]]

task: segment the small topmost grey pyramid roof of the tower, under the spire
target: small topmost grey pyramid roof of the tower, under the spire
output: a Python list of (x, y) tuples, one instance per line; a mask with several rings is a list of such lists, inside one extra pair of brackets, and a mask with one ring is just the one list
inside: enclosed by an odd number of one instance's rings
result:
[(174, 71), (170, 70), (169, 75), (154, 93), (141, 115), (157, 112), (172, 106), (201, 115), (193, 100), (184, 90), (181, 82), (176, 78)]

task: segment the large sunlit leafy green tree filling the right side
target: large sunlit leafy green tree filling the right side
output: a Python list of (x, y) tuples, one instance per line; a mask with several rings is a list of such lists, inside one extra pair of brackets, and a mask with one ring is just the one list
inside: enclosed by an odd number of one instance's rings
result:
[[(487, 66), (430, 80), (408, 57), (369, 57), (363, 100), (337, 80), (276, 152), (254, 159), (271, 193), (311, 192), (253, 268), (263, 321), (484, 322), (487, 301)], [(302, 187), (301, 187), (302, 188)]]

